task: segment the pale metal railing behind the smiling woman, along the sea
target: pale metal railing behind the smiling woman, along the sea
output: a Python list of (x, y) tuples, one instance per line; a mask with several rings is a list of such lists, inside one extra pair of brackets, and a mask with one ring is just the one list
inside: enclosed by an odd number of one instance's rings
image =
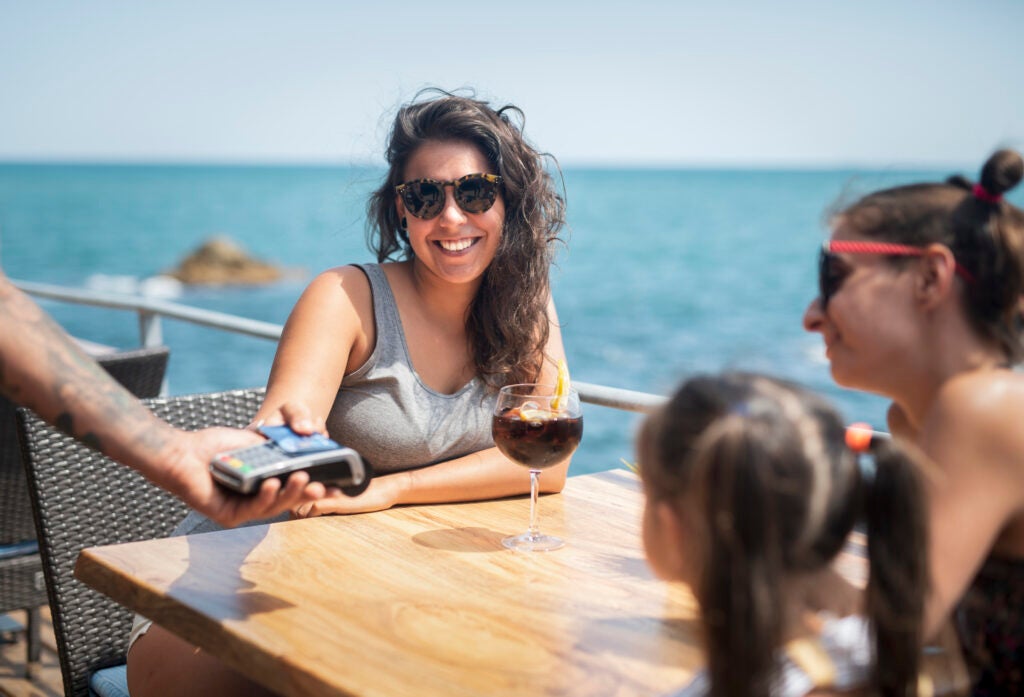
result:
[[(258, 339), (269, 339), (270, 341), (281, 339), (281, 324), (248, 319), (225, 312), (204, 310), (142, 296), (100, 293), (26, 280), (13, 282), (29, 295), (37, 298), (137, 312), (139, 340), (144, 347), (160, 346), (164, 343), (164, 332), (161, 323), (163, 317), (201, 324), (222, 332), (244, 334)], [(624, 411), (649, 411), (663, 404), (666, 399), (660, 395), (648, 392), (637, 392), (579, 381), (573, 382), (573, 387), (580, 393), (580, 399), (585, 402)]]

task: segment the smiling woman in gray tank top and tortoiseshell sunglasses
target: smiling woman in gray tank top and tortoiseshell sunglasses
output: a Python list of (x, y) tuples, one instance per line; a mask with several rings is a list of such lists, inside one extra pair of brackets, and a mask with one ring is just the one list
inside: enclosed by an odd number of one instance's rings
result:
[[(399, 108), (369, 203), (379, 263), (332, 268), (305, 290), (254, 420), (329, 432), (376, 476), (357, 497), (295, 515), (529, 491), (494, 447), (492, 409), (503, 385), (554, 384), (564, 359), (549, 284), (564, 205), (521, 120), (446, 93)], [(561, 490), (567, 468), (546, 471), (542, 490)], [(178, 532), (210, 529), (191, 515)], [(137, 621), (133, 636), (132, 695), (264, 694), (160, 627)]]

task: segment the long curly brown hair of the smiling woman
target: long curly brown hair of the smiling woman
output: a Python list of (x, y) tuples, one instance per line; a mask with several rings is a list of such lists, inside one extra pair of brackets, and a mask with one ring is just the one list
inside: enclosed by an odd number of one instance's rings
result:
[(367, 206), (368, 244), (379, 262), (414, 258), (395, 209), (394, 187), (406, 166), (428, 141), (475, 146), (503, 179), (502, 241), (466, 317), (476, 373), (494, 388), (540, 376), (549, 326), (547, 301), (554, 244), (565, 224), (565, 203), (523, 133), (522, 112), (511, 104), (493, 108), (473, 96), (438, 89), (419, 92), (398, 108), (385, 157), (388, 173)]

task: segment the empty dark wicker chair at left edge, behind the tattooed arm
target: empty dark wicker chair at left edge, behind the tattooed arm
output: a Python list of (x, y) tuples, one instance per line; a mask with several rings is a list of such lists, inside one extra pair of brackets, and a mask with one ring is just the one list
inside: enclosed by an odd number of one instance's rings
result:
[[(160, 346), (101, 355), (97, 361), (135, 396), (156, 397), (167, 371), (168, 355), (167, 347)], [(39, 606), (46, 603), (46, 586), (17, 445), (14, 408), (12, 402), (0, 397), (0, 614), (25, 610), (28, 615), (28, 674), (39, 660)]]

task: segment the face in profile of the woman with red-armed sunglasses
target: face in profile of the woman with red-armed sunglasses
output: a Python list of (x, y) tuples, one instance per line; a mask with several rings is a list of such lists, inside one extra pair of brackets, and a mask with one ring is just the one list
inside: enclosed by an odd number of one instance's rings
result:
[[(841, 223), (833, 239), (863, 239)], [(920, 358), (915, 334), (916, 264), (895, 266), (880, 254), (838, 254), (831, 266), (834, 294), (826, 308), (815, 298), (804, 313), (804, 329), (825, 344), (833, 378), (844, 387), (893, 396), (906, 362)]]

